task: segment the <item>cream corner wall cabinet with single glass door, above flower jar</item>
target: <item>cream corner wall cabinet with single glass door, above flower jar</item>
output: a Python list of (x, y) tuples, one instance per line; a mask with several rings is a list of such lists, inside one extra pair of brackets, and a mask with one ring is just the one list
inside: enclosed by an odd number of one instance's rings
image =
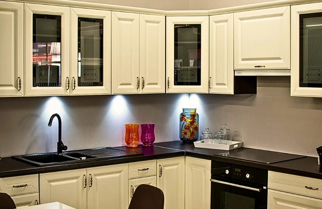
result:
[(208, 93), (209, 16), (166, 17), (166, 92)]

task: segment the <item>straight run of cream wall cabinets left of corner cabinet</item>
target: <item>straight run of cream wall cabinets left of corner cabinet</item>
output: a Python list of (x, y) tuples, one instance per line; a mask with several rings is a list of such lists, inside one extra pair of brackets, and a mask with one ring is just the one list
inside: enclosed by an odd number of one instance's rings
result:
[(165, 92), (164, 16), (0, 1), (0, 17), (0, 96)]

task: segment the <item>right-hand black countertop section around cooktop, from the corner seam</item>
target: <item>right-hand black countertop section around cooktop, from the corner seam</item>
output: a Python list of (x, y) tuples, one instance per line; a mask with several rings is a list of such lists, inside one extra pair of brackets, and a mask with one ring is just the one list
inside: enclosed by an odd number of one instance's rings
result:
[[(243, 166), (250, 166), (255, 168), (263, 168), (270, 171), (276, 171), (281, 173), (294, 174), (305, 177), (319, 178), (322, 179), (322, 166), (317, 164), (317, 158), (306, 157), (301, 159), (288, 160), (284, 162), (264, 164), (251, 162), (248, 160), (233, 159), (223, 156), (214, 155), (221, 153), (223, 150), (213, 150), (194, 147), (194, 144), (182, 143), (182, 141), (168, 141), (155, 143), (156, 146), (171, 148), (176, 150), (185, 150), (185, 156), (202, 158), (208, 160), (217, 160), (227, 163), (239, 164)], [(251, 149), (251, 148), (238, 148), (240, 150)]]

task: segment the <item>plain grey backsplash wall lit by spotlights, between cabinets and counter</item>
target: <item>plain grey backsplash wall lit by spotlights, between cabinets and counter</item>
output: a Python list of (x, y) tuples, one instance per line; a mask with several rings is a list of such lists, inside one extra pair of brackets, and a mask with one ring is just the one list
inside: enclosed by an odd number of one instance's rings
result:
[(125, 145), (126, 123), (155, 123), (156, 142), (179, 140), (179, 114), (196, 107), (200, 134), (223, 123), (245, 147), (316, 156), (322, 99), (291, 97), (289, 77), (258, 77), (256, 95), (151, 94), (0, 98), (2, 156)]

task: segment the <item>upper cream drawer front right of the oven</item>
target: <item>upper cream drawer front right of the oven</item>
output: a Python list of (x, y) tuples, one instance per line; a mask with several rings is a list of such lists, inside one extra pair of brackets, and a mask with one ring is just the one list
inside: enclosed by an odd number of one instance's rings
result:
[(269, 171), (268, 188), (322, 199), (322, 180), (316, 178)]

